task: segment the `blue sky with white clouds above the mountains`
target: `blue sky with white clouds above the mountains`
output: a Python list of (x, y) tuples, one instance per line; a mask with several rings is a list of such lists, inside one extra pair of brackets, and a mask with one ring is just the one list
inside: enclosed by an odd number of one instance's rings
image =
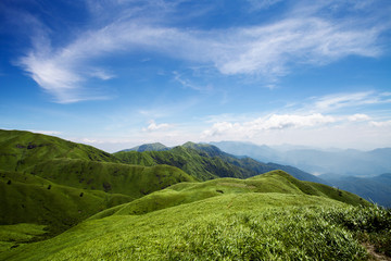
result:
[(391, 147), (391, 2), (2, 0), (0, 128), (113, 152)]

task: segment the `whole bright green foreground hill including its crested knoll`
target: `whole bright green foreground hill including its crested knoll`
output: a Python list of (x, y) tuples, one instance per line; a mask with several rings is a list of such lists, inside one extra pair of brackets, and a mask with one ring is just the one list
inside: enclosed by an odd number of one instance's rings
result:
[[(178, 184), (0, 259), (368, 260), (364, 236), (387, 253), (391, 212), (336, 201), (332, 189), (283, 172)], [(367, 204), (354, 195), (340, 197)]]

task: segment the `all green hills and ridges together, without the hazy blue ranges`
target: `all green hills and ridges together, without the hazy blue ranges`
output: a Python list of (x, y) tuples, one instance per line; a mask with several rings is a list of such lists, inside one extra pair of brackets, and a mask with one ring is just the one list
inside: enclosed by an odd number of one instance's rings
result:
[(0, 260), (389, 259), (391, 210), (321, 183), (205, 144), (0, 130)]

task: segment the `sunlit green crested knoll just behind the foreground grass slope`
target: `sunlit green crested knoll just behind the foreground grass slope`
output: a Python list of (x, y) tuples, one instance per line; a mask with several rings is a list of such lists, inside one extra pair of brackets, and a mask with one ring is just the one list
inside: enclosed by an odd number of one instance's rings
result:
[(282, 171), (273, 171), (248, 179), (218, 178), (203, 183), (180, 183), (169, 188), (150, 194), (146, 197), (102, 211), (90, 219), (108, 215), (146, 214), (152, 211), (190, 203), (222, 195), (239, 195), (251, 192), (278, 192), (291, 195), (311, 195), (330, 198), (352, 206), (369, 203), (354, 194), (336, 188), (301, 182)]

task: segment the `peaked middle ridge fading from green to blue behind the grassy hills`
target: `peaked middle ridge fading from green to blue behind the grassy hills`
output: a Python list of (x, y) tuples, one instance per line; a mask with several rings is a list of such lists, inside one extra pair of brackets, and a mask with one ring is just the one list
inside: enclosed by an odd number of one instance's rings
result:
[(167, 151), (122, 151), (114, 156), (129, 164), (174, 165), (199, 181), (217, 177), (247, 178), (273, 170), (282, 170), (302, 181), (325, 183), (295, 167), (275, 163), (265, 164), (249, 157), (236, 157), (207, 144), (186, 142)]

